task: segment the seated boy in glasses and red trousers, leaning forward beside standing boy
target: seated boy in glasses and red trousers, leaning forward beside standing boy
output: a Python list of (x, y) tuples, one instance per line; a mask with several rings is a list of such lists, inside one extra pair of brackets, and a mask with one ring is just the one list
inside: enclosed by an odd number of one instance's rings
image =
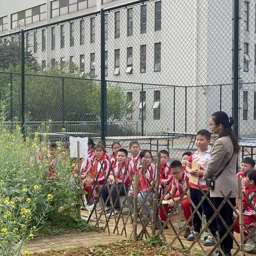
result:
[[(184, 190), (188, 186), (188, 182), (189, 182), (188, 174), (184, 171), (180, 161), (177, 161), (177, 160), (173, 161), (170, 164), (170, 169), (171, 169), (171, 174), (173, 175), (172, 187), (170, 189), (170, 194), (168, 193), (164, 197), (164, 200), (171, 199), (171, 196), (173, 197), (173, 200), (171, 200), (169, 205), (165, 204), (159, 208), (159, 216), (162, 222), (166, 221), (167, 219), (166, 214), (168, 214), (169, 209), (174, 207), (175, 204), (179, 201), (180, 197), (183, 195)], [(177, 192), (178, 192), (178, 195), (176, 195)], [(188, 220), (188, 218), (191, 215), (191, 204), (189, 202), (188, 196), (189, 196), (189, 190), (188, 190), (188, 194), (185, 195), (181, 201), (181, 207), (183, 209), (184, 217), (186, 220)], [(189, 226), (190, 227), (192, 226), (191, 220), (189, 222)], [(187, 238), (189, 234), (190, 234), (190, 229), (187, 228), (185, 231), (184, 237)]]

